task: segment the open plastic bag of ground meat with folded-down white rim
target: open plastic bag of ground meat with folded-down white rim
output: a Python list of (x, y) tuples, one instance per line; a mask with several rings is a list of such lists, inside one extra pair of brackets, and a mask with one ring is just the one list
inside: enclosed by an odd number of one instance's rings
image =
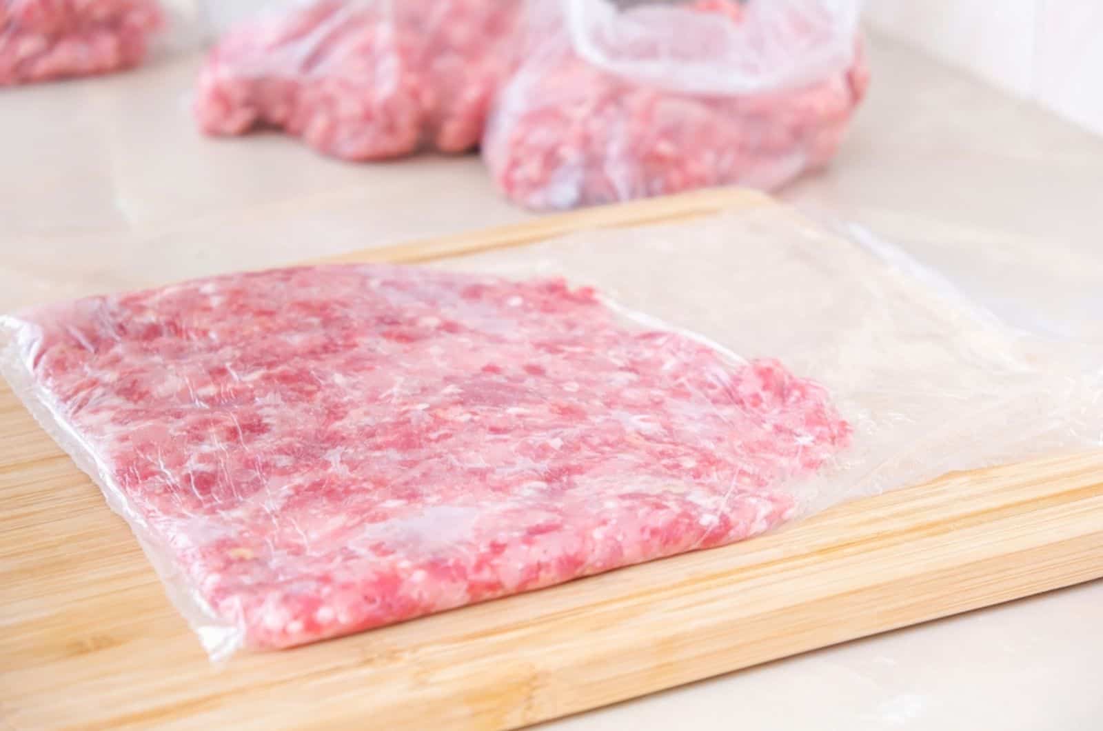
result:
[(501, 189), (566, 209), (775, 189), (835, 153), (868, 73), (856, 0), (537, 0), (548, 29), (483, 140)]

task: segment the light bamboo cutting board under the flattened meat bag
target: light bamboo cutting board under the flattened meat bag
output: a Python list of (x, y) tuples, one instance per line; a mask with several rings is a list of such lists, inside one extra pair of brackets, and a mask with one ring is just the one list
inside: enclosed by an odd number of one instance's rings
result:
[[(769, 204), (709, 191), (343, 259)], [(1100, 576), (1092, 454), (951, 475), (728, 548), (215, 668), (126, 523), (0, 388), (0, 728), (515, 728)]]

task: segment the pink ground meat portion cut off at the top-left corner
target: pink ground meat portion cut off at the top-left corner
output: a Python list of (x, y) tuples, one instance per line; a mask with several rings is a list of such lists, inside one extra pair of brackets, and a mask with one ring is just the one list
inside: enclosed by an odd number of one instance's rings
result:
[(153, 0), (0, 0), (0, 86), (137, 66), (162, 22)]

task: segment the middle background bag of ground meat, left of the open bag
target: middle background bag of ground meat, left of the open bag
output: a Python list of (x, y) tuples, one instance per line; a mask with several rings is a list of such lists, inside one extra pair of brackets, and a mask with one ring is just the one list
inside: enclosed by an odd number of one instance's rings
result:
[(473, 148), (508, 72), (516, 0), (317, 0), (231, 31), (199, 81), (211, 135), (275, 127), (347, 160)]

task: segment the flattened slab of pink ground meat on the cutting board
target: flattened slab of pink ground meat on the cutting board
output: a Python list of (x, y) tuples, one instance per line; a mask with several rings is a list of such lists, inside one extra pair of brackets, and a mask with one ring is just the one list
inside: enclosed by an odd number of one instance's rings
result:
[(760, 533), (850, 437), (780, 363), (558, 279), (304, 267), (21, 318), (77, 462), (253, 647)]

